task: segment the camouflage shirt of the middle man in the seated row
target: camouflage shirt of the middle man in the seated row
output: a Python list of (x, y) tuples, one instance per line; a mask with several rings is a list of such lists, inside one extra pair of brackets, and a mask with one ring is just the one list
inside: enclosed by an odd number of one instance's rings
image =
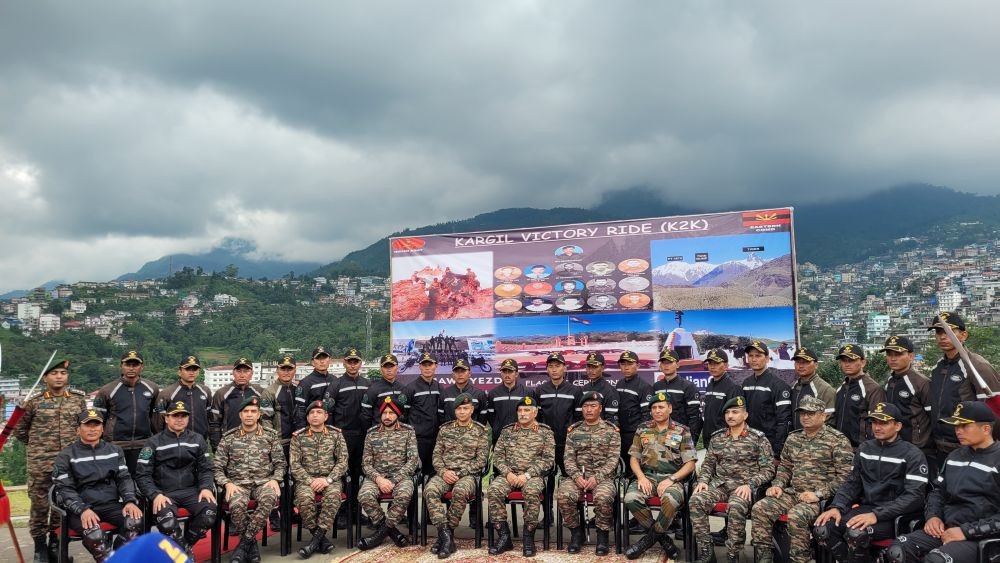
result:
[(552, 429), (533, 422), (528, 428), (508, 424), (500, 431), (493, 450), (493, 465), (503, 477), (508, 473), (527, 473), (540, 477), (552, 468), (556, 459), (556, 439)]

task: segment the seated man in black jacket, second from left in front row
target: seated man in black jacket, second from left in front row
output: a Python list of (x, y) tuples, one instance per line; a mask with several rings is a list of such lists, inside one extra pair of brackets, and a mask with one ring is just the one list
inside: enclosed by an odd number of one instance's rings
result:
[[(146, 440), (135, 466), (136, 486), (152, 503), (156, 527), (189, 557), (218, 513), (208, 445), (201, 434), (188, 430), (190, 416), (187, 402), (167, 403), (166, 428)], [(180, 508), (191, 515), (186, 531), (177, 521)]]

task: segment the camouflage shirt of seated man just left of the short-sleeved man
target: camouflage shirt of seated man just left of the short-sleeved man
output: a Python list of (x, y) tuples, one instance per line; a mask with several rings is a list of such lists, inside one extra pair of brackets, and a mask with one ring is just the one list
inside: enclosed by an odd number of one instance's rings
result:
[(583, 421), (570, 426), (563, 460), (566, 476), (574, 481), (577, 477), (596, 477), (598, 481), (611, 479), (618, 467), (621, 443), (618, 427), (606, 420), (595, 424)]

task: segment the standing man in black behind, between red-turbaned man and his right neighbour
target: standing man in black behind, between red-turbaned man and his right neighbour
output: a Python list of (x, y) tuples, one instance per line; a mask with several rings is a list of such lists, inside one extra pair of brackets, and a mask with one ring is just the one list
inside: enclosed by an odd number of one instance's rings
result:
[(406, 404), (403, 412), (417, 434), (417, 451), (420, 454), (420, 469), (424, 475), (434, 474), (434, 442), (437, 440), (438, 424), (444, 417), (441, 384), (434, 379), (437, 359), (430, 353), (420, 355), (420, 377), (406, 386)]

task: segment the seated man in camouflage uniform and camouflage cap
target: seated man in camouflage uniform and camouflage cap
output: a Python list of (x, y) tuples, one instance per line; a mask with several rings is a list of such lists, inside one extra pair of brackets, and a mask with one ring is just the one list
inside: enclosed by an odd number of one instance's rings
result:
[(811, 533), (819, 503), (833, 497), (854, 466), (850, 440), (826, 425), (826, 402), (806, 396), (796, 411), (802, 428), (788, 435), (777, 475), (765, 497), (753, 506), (751, 542), (758, 563), (774, 561), (772, 530), (782, 514), (788, 514), (789, 561), (806, 563), (813, 558)]

